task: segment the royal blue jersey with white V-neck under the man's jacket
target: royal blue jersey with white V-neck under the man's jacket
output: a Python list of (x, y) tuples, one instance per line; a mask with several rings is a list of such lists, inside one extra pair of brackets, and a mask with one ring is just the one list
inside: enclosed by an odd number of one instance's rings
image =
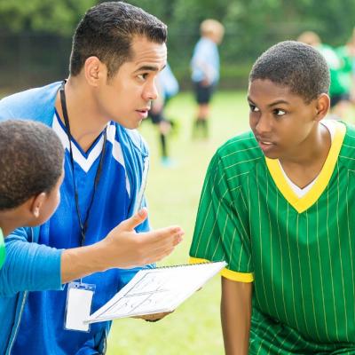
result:
[[(65, 126), (57, 116), (53, 119), (55, 130), (65, 146), (65, 180), (60, 187), (61, 202), (51, 219), (42, 225), (39, 243), (51, 245), (54, 248), (76, 248), (81, 244), (79, 221), (75, 209), (73, 171), (70, 163), (69, 142)], [(88, 152), (73, 141), (73, 157), (75, 169), (75, 184), (79, 196), (82, 220), (88, 212), (95, 175), (98, 170), (100, 154), (104, 142), (103, 134), (96, 139)], [(99, 185), (94, 196), (85, 237), (85, 245), (91, 245), (106, 236), (115, 225), (126, 219), (130, 204), (130, 185), (126, 179), (124, 159), (120, 142), (115, 134), (115, 124), (107, 126), (106, 154)], [(121, 272), (116, 269), (107, 272), (94, 273), (83, 279), (83, 282), (96, 285), (92, 310), (99, 309), (114, 296), (122, 287)], [(107, 288), (107, 285), (114, 287)], [(63, 327), (66, 307), (67, 287), (62, 291), (44, 291), (31, 293), (21, 321), (20, 333), (13, 347), (13, 354), (67, 354), (78, 351), (85, 339), (90, 339), (98, 333), (103, 324), (91, 326), (92, 334), (73, 332)], [(48, 320), (47, 320), (48, 319)], [(29, 327), (28, 327), (29, 326)], [(51, 343), (43, 342), (52, 332)], [(53, 338), (55, 342), (53, 342)], [(38, 348), (42, 343), (45, 349)]]

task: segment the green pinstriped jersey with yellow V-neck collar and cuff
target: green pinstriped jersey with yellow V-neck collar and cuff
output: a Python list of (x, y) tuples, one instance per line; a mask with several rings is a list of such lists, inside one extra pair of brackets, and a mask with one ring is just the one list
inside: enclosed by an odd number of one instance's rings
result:
[(254, 281), (250, 354), (355, 354), (354, 201), (355, 130), (343, 123), (302, 198), (252, 133), (217, 150), (190, 256)]

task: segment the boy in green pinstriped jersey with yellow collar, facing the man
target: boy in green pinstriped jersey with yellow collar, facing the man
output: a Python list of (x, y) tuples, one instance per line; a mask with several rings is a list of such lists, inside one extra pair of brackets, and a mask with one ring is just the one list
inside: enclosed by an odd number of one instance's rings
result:
[(252, 132), (209, 165), (190, 256), (225, 260), (225, 353), (355, 354), (355, 130), (322, 120), (329, 70), (278, 43), (249, 75)]

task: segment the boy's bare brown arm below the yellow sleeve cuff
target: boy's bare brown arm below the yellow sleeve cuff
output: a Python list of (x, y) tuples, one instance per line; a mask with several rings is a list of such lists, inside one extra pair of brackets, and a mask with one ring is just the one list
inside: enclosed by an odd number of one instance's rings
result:
[(252, 283), (222, 277), (221, 319), (225, 355), (248, 355)]

